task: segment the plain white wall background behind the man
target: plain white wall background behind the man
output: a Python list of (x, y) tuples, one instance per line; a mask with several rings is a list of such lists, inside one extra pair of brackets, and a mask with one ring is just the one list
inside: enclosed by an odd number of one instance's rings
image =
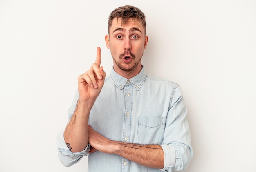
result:
[(255, 0), (0, 0), (0, 171), (86, 171), (61, 165), (56, 135), (97, 46), (110, 73), (108, 15), (125, 4), (147, 16), (148, 74), (183, 89), (186, 172), (255, 172)]

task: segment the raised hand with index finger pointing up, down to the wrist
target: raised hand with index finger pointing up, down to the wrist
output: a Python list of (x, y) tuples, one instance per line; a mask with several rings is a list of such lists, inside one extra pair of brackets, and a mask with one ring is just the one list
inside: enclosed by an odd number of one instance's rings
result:
[(89, 71), (78, 77), (79, 101), (94, 103), (104, 85), (106, 73), (101, 65), (101, 48), (97, 47), (95, 63)]

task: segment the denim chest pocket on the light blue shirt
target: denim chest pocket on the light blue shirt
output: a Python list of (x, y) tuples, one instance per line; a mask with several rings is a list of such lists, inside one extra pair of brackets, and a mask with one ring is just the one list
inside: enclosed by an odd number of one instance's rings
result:
[(139, 116), (137, 143), (161, 144), (164, 137), (165, 117)]

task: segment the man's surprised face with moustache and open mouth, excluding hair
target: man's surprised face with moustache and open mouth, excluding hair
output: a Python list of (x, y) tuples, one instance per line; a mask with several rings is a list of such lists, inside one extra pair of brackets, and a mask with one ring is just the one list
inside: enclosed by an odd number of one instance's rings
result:
[(121, 19), (114, 19), (105, 41), (111, 51), (115, 71), (141, 70), (141, 57), (148, 43), (141, 22), (130, 18), (125, 25), (121, 25)]

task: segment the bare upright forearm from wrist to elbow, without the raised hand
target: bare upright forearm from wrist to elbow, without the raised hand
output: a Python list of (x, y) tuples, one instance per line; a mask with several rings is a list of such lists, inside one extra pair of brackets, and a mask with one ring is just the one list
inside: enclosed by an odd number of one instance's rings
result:
[(80, 152), (88, 143), (88, 118), (93, 103), (77, 101), (76, 110), (65, 131), (64, 140), (71, 152)]

